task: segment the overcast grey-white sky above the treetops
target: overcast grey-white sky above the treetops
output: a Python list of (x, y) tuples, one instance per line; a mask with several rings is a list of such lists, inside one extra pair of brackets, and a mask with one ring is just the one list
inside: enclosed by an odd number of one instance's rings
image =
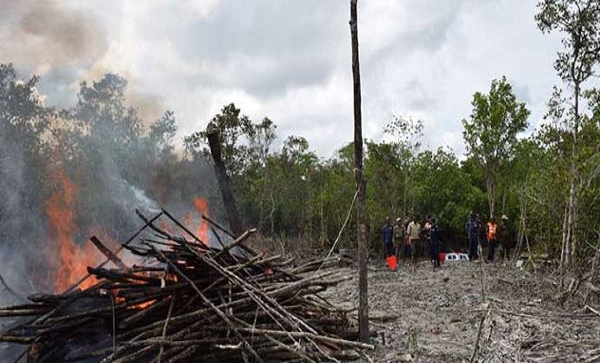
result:
[[(535, 126), (556, 82), (557, 34), (535, 0), (359, 0), (363, 132), (393, 115), (425, 122), (422, 142), (465, 152), (473, 93), (506, 76)], [(72, 106), (78, 83), (125, 76), (152, 121), (175, 111), (183, 135), (223, 105), (269, 117), (279, 142), (304, 136), (330, 157), (354, 138), (348, 0), (0, 0), (0, 63), (42, 77), (46, 103)]]

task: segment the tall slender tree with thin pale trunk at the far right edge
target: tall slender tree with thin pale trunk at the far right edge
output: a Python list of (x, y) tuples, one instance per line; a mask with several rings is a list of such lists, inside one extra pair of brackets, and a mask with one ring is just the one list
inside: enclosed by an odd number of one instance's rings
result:
[[(548, 116), (555, 122), (546, 126), (545, 135), (559, 151), (556, 165), (562, 166), (566, 176), (563, 233), (561, 241), (561, 270), (585, 267), (590, 235), (600, 231), (597, 221), (589, 221), (582, 207), (590, 207), (595, 200), (593, 185), (597, 181), (594, 170), (598, 165), (595, 146), (589, 145), (588, 134), (595, 134), (595, 117), (590, 115), (597, 107), (598, 92), (588, 81), (600, 69), (600, 3), (583, 0), (545, 0), (537, 4), (537, 26), (543, 33), (558, 31), (564, 34), (563, 49), (555, 60), (555, 70), (569, 91), (555, 86), (550, 99)], [(587, 106), (584, 101), (587, 100)], [(595, 141), (597, 143), (597, 139)], [(568, 151), (568, 152), (567, 152)], [(591, 152), (591, 153), (590, 153)], [(591, 178), (590, 178), (591, 177)], [(593, 191), (592, 195), (588, 191)], [(592, 208), (593, 209), (593, 208)], [(595, 233), (600, 235), (600, 233)], [(594, 259), (596, 260), (596, 259)], [(585, 263), (576, 263), (583, 261)]]

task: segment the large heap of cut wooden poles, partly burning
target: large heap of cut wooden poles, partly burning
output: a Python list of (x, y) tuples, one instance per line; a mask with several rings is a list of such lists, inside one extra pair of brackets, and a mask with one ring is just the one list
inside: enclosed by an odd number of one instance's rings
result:
[[(15, 319), (0, 341), (28, 345), (27, 362), (317, 362), (358, 358), (363, 349), (347, 317), (319, 292), (349, 277), (321, 264), (288, 267), (244, 242), (229, 242), (210, 221), (221, 247), (195, 237), (167, 211), (123, 243), (64, 293), (36, 294), (0, 308)], [(165, 229), (167, 219), (175, 229)], [(117, 256), (129, 250), (142, 263)], [(115, 269), (106, 269), (112, 262)], [(95, 284), (78, 289), (83, 280)]]

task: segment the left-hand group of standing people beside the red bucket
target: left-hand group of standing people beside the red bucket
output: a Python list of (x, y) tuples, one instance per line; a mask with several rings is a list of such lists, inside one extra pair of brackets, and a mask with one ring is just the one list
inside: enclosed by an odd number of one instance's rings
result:
[(417, 256), (424, 255), (427, 250), (435, 270), (440, 266), (440, 233), (435, 218), (428, 216), (423, 228), (418, 221), (418, 215), (405, 221), (398, 218), (395, 220), (395, 225), (392, 225), (389, 217), (386, 218), (384, 250), (386, 258), (395, 256), (396, 259), (400, 259), (402, 257), (403, 262), (410, 258), (413, 270), (416, 269)]

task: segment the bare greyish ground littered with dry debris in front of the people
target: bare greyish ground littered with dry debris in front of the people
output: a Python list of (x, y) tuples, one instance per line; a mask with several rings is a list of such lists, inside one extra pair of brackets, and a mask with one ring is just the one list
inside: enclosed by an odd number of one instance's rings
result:
[[(501, 262), (446, 262), (435, 272), (425, 260), (415, 272), (405, 264), (396, 271), (372, 265), (376, 348), (369, 356), (378, 363), (469, 362), (481, 325), (476, 362), (600, 362), (600, 316), (592, 310), (598, 306), (559, 307), (553, 280)], [(325, 298), (351, 308), (356, 286), (357, 277), (328, 289)]]

